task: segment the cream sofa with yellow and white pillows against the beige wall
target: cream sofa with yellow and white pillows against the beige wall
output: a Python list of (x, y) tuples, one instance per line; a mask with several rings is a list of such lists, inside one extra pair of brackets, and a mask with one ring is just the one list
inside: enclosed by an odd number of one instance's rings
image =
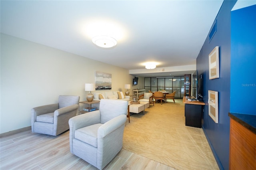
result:
[[(122, 95), (122, 97), (120, 96)], [(102, 91), (94, 93), (94, 100), (100, 100), (102, 97), (103, 99), (118, 99), (118, 100), (124, 100), (124, 101), (130, 101), (130, 96), (124, 95), (124, 93), (121, 91)], [(101, 97), (101, 98), (100, 98)]]

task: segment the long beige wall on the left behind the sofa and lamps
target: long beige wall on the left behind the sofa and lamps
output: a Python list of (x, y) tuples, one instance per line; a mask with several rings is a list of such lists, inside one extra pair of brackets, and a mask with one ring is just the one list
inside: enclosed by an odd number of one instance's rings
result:
[[(84, 83), (95, 82), (95, 71), (112, 74), (112, 90), (125, 91), (124, 84), (132, 84), (134, 77), (126, 69), (5, 34), (0, 57), (1, 134), (29, 127), (30, 109), (58, 103), (59, 95), (86, 100)], [(144, 87), (142, 79), (139, 88)]]

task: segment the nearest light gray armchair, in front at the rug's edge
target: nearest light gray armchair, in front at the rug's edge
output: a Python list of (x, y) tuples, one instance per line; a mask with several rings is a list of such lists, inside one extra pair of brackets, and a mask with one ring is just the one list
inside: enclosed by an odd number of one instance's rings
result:
[(101, 99), (100, 110), (72, 117), (70, 152), (102, 170), (122, 149), (128, 101)]

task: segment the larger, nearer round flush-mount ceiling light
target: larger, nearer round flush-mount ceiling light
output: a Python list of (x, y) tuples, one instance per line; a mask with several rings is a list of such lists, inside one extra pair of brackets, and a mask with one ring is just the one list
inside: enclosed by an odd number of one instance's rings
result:
[(96, 36), (92, 38), (92, 42), (103, 48), (114, 47), (117, 44), (117, 41), (110, 36)]

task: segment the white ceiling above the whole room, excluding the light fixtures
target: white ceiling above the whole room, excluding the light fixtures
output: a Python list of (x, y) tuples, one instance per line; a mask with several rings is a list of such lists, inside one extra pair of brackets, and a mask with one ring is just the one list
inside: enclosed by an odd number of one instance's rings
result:
[[(1, 33), (128, 70), (145, 69), (147, 61), (157, 62), (157, 68), (195, 65), (222, 2), (1, 0)], [(115, 47), (105, 49), (92, 43), (89, 24), (99, 21), (105, 22), (99, 26), (105, 31), (112, 23), (121, 28), (121, 35), (114, 37), (118, 40)]]

